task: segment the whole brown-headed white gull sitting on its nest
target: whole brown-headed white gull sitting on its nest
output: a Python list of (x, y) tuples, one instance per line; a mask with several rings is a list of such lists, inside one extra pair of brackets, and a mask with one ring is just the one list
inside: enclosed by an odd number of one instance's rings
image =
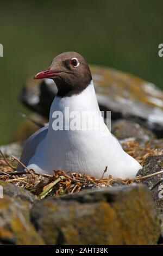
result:
[[(47, 174), (55, 169), (101, 178), (107, 166), (105, 177), (135, 176), (141, 165), (124, 152), (101, 118), (86, 60), (76, 52), (61, 53), (50, 68), (35, 76), (41, 78), (54, 80), (58, 93), (51, 106), (49, 125), (27, 140), (21, 162)], [(87, 113), (89, 119), (84, 118)], [(91, 129), (87, 127), (89, 122)]]

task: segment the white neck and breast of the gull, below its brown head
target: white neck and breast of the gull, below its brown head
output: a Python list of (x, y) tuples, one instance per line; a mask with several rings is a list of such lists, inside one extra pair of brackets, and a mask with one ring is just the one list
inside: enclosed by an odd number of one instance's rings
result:
[[(63, 113), (64, 124), (67, 123), (65, 107), (70, 113), (76, 111), (92, 112), (100, 129), (95, 130), (53, 130), (53, 113)], [(86, 173), (101, 178), (106, 166), (105, 176), (114, 178), (130, 178), (141, 168), (140, 164), (126, 154), (117, 139), (99, 119), (99, 106), (93, 82), (79, 95), (71, 97), (55, 97), (50, 112), (48, 133), (39, 144), (28, 167), (37, 172), (53, 173), (53, 169)], [(94, 119), (93, 119), (94, 120)], [(98, 126), (98, 127), (99, 127)]]

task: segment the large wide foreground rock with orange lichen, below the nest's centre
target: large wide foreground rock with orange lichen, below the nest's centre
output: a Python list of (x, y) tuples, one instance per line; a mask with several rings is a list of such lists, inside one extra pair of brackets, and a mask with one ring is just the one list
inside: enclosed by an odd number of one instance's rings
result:
[(48, 245), (154, 245), (160, 234), (151, 193), (139, 185), (42, 200), (31, 220)]

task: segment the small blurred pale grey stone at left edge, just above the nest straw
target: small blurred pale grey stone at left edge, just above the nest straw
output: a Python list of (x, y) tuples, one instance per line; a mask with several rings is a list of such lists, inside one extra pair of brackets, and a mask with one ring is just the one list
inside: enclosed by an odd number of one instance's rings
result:
[(10, 157), (14, 155), (18, 159), (20, 159), (21, 152), (22, 152), (22, 144), (20, 142), (14, 142), (7, 145), (2, 145), (0, 150), (4, 154), (5, 157)]

